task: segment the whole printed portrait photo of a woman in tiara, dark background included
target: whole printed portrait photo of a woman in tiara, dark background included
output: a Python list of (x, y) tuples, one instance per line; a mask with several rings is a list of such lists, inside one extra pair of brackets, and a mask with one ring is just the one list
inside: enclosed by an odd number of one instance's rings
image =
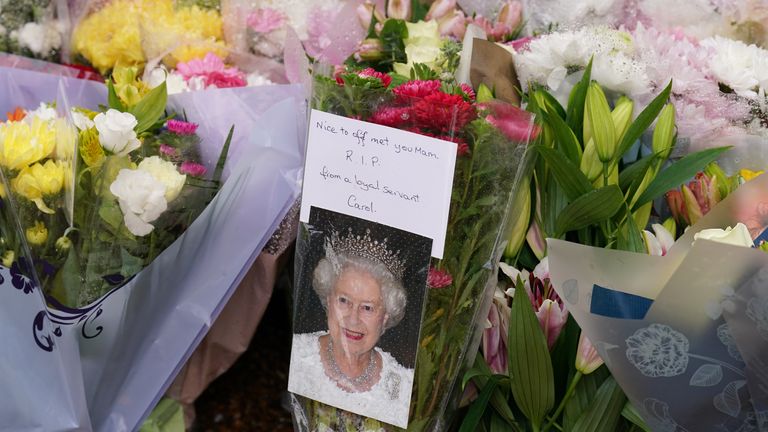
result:
[(406, 427), (432, 240), (316, 207), (309, 221), (288, 390)]

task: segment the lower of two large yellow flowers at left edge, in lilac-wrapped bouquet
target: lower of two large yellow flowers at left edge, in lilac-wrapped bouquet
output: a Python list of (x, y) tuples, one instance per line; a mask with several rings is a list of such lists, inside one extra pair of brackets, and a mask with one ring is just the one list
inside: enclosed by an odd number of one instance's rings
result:
[(34, 202), (37, 208), (48, 214), (53, 214), (43, 197), (55, 195), (64, 186), (64, 168), (52, 160), (41, 165), (36, 163), (21, 170), (15, 179), (11, 180), (11, 189), (24, 198)]

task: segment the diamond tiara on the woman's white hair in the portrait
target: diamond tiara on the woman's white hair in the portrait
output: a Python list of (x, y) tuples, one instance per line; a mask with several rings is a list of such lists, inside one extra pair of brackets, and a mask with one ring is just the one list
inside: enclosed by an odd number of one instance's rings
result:
[(336, 254), (339, 252), (357, 255), (372, 261), (384, 264), (384, 266), (398, 280), (403, 279), (405, 274), (405, 262), (401, 260), (400, 251), (392, 251), (387, 248), (387, 239), (378, 241), (371, 238), (371, 230), (365, 230), (365, 235), (360, 236), (348, 229), (346, 236), (341, 237), (339, 232), (331, 232), (330, 239), (325, 240), (326, 256), (331, 260), (337, 271), (341, 270), (340, 263)]

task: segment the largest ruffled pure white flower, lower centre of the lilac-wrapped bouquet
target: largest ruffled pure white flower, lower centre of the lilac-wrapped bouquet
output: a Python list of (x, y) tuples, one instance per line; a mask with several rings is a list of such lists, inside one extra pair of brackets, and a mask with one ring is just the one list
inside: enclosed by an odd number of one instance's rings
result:
[(109, 186), (120, 203), (128, 231), (137, 236), (152, 232), (154, 222), (168, 208), (165, 185), (142, 170), (122, 169)]

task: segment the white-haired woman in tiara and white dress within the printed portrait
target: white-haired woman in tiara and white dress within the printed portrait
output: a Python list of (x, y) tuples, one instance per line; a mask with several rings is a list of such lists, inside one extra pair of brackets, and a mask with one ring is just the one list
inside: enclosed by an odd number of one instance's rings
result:
[[(407, 426), (413, 368), (379, 346), (408, 309), (405, 271), (400, 251), (389, 239), (372, 236), (370, 229), (333, 230), (325, 236), (322, 256), (311, 271), (311, 290), (322, 305), (324, 325), (294, 334), (289, 391)], [(420, 313), (421, 299), (415, 303)], [(407, 344), (409, 338), (400, 339)], [(415, 346), (400, 348), (415, 354)]]

